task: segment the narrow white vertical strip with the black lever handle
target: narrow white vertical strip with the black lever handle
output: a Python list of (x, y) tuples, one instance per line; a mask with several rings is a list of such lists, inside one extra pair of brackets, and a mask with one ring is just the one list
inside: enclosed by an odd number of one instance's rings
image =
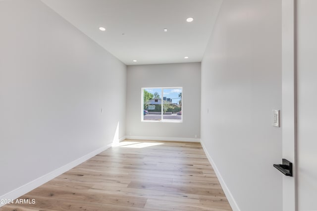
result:
[(283, 211), (298, 210), (296, 1), (282, 0), (282, 158), (293, 163), (293, 177), (283, 176)]

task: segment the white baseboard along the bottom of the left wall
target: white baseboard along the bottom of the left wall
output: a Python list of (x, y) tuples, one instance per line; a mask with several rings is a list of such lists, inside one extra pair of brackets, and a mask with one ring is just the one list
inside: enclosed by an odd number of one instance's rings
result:
[[(48, 174), (45, 174), (25, 185), (22, 185), (21, 187), (18, 187), (17, 189), (13, 190), (13, 191), (10, 191), (9, 193), (6, 193), (2, 196), (0, 196), (0, 200), (3, 199), (4, 201), (8, 200), (8, 199), (11, 199), (11, 200), (14, 200), (16, 198), (19, 198), (21, 196), (23, 196), (24, 194), (32, 191), (33, 189), (43, 185), (44, 183), (52, 180), (53, 178), (59, 176), (60, 174), (72, 169), (73, 167), (83, 163), (84, 161), (100, 154), (101, 152), (105, 151), (106, 149), (110, 148), (111, 147), (111, 144), (108, 144), (107, 146), (104, 146), (102, 148), (99, 148), (81, 158), (78, 158), (70, 163), (67, 163), (66, 165), (63, 165), (53, 171), (51, 171), (50, 173)], [(0, 207), (4, 206), (5, 204), (1, 204), (0, 203)]]

